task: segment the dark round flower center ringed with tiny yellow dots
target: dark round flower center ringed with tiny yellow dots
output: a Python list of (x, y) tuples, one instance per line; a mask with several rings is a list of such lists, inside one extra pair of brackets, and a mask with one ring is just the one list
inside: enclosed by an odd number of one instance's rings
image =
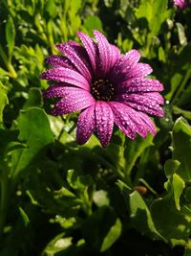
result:
[(109, 102), (114, 97), (114, 86), (108, 80), (96, 80), (92, 83), (91, 92), (96, 100)]

